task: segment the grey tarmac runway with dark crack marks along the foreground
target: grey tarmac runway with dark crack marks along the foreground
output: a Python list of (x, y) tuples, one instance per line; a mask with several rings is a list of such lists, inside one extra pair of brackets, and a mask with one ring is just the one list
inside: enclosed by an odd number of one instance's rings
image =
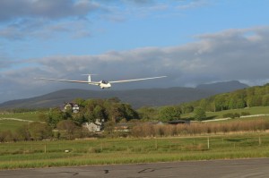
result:
[(153, 163), (139, 165), (92, 165), (2, 170), (0, 178), (243, 178), (269, 177), (269, 158)]

